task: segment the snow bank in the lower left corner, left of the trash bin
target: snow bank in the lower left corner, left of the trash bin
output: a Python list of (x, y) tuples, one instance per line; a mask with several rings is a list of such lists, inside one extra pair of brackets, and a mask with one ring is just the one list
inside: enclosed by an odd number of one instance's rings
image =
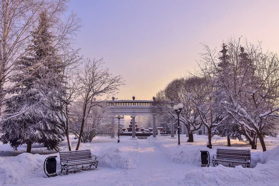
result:
[(34, 174), (42, 176), (43, 163), (45, 155), (22, 153), (18, 156), (6, 159), (7, 161), (0, 162), (0, 185), (2, 184), (17, 184)]

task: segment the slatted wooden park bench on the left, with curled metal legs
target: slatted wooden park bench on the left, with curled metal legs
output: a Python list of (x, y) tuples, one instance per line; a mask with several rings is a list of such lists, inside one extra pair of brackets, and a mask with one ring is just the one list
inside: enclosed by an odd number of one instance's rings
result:
[(59, 155), (60, 155), (61, 172), (63, 170), (66, 170), (66, 174), (68, 174), (69, 170), (71, 169), (83, 170), (87, 167), (92, 167), (92, 166), (95, 166), (95, 168), (97, 168), (99, 162), (98, 160), (96, 160), (97, 157), (95, 155), (93, 156), (91, 155), (90, 149), (64, 151), (64, 152), (59, 152)]

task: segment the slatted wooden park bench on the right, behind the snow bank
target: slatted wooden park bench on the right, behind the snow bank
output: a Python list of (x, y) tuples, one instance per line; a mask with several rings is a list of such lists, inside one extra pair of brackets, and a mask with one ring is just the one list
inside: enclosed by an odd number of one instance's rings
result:
[[(215, 157), (216, 156), (216, 157)], [(235, 167), (235, 164), (244, 164), (245, 166), (250, 168), (251, 162), (251, 153), (249, 149), (224, 149), (224, 148), (217, 148), (216, 155), (213, 155), (212, 164), (213, 166), (222, 164), (220, 162), (227, 162), (228, 167)], [(223, 165), (223, 164), (222, 164)]]

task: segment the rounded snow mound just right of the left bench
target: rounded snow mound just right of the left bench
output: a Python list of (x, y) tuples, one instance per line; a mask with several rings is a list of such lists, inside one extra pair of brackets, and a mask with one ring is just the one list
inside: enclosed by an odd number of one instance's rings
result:
[(125, 156), (118, 148), (111, 147), (104, 149), (97, 154), (99, 160), (99, 166), (108, 168), (122, 168), (131, 169), (134, 168), (134, 164), (131, 159)]

